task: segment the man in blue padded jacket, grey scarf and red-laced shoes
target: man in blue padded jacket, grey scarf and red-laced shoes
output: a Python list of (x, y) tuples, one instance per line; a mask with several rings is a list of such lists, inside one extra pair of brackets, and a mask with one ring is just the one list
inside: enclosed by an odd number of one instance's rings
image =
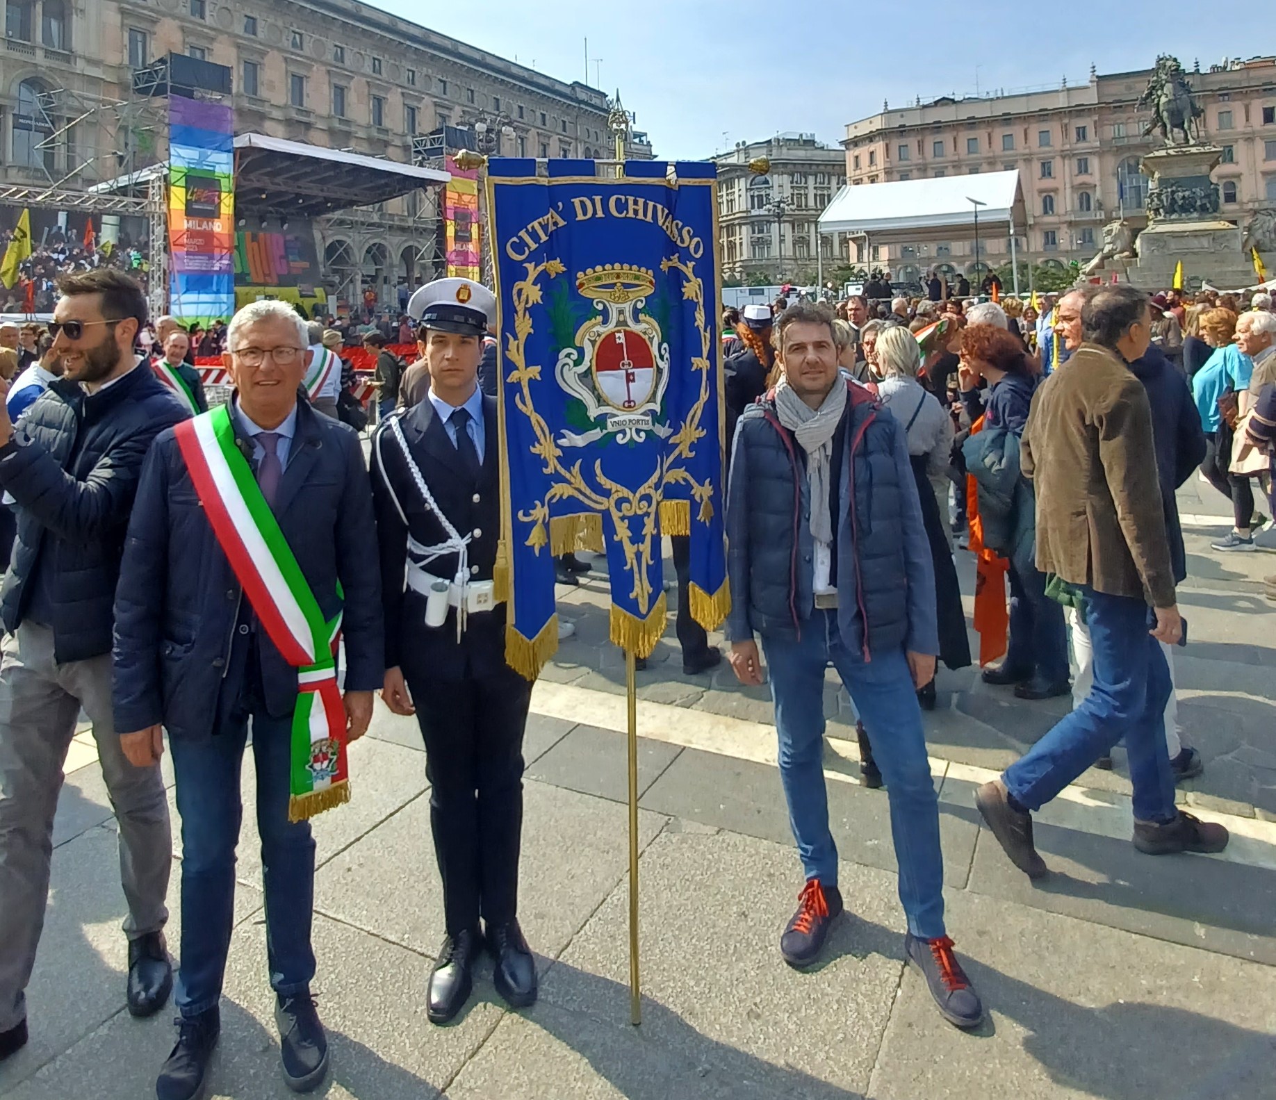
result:
[(842, 911), (822, 768), (824, 670), (837, 669), (886, 777), (907, 916), (905, 952), (946, 1020), (984, 1009), (944, 929), (939, 812), (915, 690), (939, 652), (930, 547), (903, 426), (837, 369), (832, 313), (799, 304), (775, 328), (777, 387), (735, 433), (727, 493), (731, 667), (771, 673), (780, 777), (806, 874), (780, 940), (817, 961)]

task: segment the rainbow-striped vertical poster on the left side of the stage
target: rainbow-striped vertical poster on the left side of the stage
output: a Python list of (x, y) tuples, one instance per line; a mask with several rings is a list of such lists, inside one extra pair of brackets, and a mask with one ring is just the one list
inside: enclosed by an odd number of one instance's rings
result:
[(235, 313), (235, 114), (168, 100), (168, 311), (207, 325)]

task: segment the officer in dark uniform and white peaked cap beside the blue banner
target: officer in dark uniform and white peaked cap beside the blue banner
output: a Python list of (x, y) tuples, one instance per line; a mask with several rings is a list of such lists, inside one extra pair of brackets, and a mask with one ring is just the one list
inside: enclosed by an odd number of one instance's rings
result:
[(445, 278), (417, 290), (407, 311), (430, 392), (373, 440), (388, 647), (382, 698), (397, 715), (416, 713), (425, 739), (447, 923), (427, 1011), (445, 1023), (468, 999), (484, 947), (496, 992), (514, 1008), (536, 1000), (517, 919), (532, 685), (505, 664), (505, 607), (493, 600), (500, 439), (478, 364), (496, 299)]

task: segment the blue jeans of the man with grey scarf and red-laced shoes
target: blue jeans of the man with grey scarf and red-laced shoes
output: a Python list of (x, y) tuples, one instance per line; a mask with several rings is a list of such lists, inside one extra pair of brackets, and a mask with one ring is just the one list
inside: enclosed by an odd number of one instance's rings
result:
[(780, 781), (806, 878), (837, 886), (837, 846), (824, 787), (824, 670), (837, 669), (873, 743), (891, 801), (900, 901), (914, 935), (944, 934), (939, 799), (930, 777), (921, 708), (903, 650), (864, 661), (842, 644), (837, 613), (817, 610), (798, 641), (762, 639), (780, 736)]

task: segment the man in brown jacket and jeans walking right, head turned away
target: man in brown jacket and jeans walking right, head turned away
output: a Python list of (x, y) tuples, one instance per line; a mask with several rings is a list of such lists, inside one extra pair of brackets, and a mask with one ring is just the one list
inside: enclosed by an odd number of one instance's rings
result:
[(1082, 345), (1032, 401), (1023, 473), (1036, 487), (1036, 563), (1081, 590), (1094, 643), (1094, 687), (975, 803), (1016, 866), (1046, 873), (1032, 844), (1040, 809), (1124, 736), (1134, 847), (1148, 855), (1221, 851), (1222, 826), (1174, 805), (1165, 748), (1171, 690), (1159, 642), (1183, 637), (1156, 479), (1147, 392), (1127, 364), (1147, 351), (1147, 295), (1108, 286), (1081, 313)]

